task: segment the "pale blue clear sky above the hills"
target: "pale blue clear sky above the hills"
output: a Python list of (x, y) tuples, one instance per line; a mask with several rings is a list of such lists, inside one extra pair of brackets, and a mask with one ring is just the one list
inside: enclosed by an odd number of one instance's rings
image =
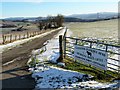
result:
[[(22, 0), (21, 0), (22, 1)], [(113, 0), (114, 1), (114, 0)], [(48, 15), (71, 15), (71, 14), (87, 14), (97, 12), (118, 12), (117, 1), (102, 1), (101, 2), (43, 2), (29, 1), (15, 2), (2, 1), (0, 9), (2, 9), (0, 18), (8, 17), (46, 17)]]

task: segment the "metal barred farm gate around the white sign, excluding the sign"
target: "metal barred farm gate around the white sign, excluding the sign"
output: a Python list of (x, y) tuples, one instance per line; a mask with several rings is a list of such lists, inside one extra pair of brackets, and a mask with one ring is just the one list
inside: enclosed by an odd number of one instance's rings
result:
[(75, 46), (83, 46), (85, 48), (101, 50), (107, 53), (107, 67), (106, 70), (120, 72), (120, 46), (106, 44), (98, 40), (78, 39), (66, 37), (67, 30), (63, 36), (64, 57), (75, 59)]

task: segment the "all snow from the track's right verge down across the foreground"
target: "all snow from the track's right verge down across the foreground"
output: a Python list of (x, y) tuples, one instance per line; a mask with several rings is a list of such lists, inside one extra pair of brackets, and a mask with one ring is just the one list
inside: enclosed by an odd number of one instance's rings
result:
[[(40, 63), (36, 64), (35, 68), (29, 68), (33, 73), (32, 77), (36, 80), (36, 90), (46, 89), (101, 89), (101, 88), (116, 88), (116, 83), (99, 83), (91, 80), (90, 75), (79, 73), (76, 71), (65, 70), (53, 66), (47, 66), (45, 61), (56, 63), (59, 58), (59, 35), (63, 35), (65, 29), (61, 30), (53, 39), (48, 40), (46, 51), (40, 53), (40, 49), (34, 50), (32, 53)], [(42, 64), (43, 63), (43, 64)], [(58, 63), (58, 65), (65, 65)]]

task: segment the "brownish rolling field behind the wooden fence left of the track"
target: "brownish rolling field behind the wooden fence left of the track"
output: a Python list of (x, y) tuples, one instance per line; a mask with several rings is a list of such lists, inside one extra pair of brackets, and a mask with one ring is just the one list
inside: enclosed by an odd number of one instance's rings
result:
[[(2, 24), (8, 24), (8, 25), (15, 25), (16, 27), (6, 27), (6, 28), (0, 28), (0, 44), (3, 43), (3, 37), (2, 35), (6, 35), (6, 41), (10, 41), (10, 35), (12, 35), (12, 39), (18, 39), (19, 35), (20, 37), (24, 38), (26, 37), (27, 33), (33, 33), (33, 32), (39, 32), (37, 25), (31, 23), (31, 22), (12, 22), (12, 21), (0, 21), (0, 25)], [(16, 30), (17, 28), (23, 26), (23, 31), (12, 31)], [(25, 35), (26, 34), (26, 35)], [(16, 36), (15, 36), (16, 35)]]

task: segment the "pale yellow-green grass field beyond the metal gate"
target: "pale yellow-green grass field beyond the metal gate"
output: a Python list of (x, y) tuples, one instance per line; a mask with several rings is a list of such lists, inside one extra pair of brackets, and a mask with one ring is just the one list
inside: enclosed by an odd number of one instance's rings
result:
[(118, 20), (107, 20), (97, 22), (71, 22), (64, 23), (72, 32), (74, 37), (108, 38), (118, 40)]

